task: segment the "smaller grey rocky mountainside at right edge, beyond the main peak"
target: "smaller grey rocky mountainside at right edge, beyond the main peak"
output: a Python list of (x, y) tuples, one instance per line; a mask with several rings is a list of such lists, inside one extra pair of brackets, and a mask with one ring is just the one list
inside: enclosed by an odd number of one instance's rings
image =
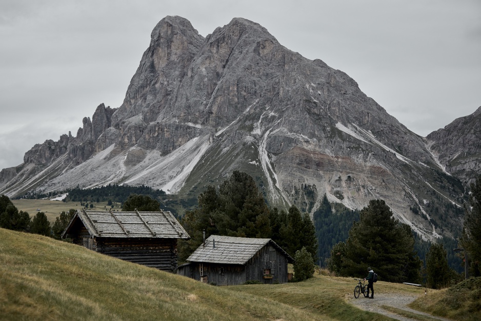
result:
[(481, 174), (481, 107), (427, 136), (439, 162), (464, 183)]

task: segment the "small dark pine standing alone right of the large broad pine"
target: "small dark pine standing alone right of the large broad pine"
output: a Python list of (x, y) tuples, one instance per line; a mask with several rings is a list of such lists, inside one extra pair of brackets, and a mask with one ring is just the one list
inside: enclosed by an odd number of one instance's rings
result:
[(434, 243), (426, 254), (426, 286), (441, 289), (449, 286), (451, 271), (447, 252), (442, 244)]

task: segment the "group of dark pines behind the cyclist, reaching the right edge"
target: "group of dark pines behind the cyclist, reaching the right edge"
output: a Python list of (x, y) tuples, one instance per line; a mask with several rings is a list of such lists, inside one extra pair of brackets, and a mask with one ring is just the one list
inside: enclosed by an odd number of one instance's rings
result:
[[(459, 238), (459, 251), (467, 254), (469, 274), (481, 276), (481, 176), (471, 184), (469, 205)], [(328, 268), (340, 276), (365, 274), (366, 267), (376, 268), (379, 279), (388, 282), (423, 282), (430, 288), (444, 288), (463, 277), (449, 267), (448, 253), (438, 240), (430, 245), (423, 264), (414, 248), (414, 234), (409, 225), (394, 219), (384, 200), (371, 200), (353, 222), (345, 241), (335, 244), (328, 259)]]

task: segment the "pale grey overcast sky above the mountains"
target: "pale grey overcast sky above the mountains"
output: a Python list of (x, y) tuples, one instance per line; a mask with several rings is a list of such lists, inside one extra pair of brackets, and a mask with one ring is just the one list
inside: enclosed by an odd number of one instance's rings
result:
[(322, 59), (426, 136), (481, 106), (481, 1), (0, 0), (0, 169), (122, 104), (167, 15), (206, 36), (233, 17)]

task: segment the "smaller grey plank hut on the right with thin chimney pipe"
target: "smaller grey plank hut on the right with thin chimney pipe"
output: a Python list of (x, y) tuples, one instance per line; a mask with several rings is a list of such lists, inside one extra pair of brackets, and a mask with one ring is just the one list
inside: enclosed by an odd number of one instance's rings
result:
[(211, 235), (177, 273), (216, 285), (286, 283), (294, 259), (270, 238)]

